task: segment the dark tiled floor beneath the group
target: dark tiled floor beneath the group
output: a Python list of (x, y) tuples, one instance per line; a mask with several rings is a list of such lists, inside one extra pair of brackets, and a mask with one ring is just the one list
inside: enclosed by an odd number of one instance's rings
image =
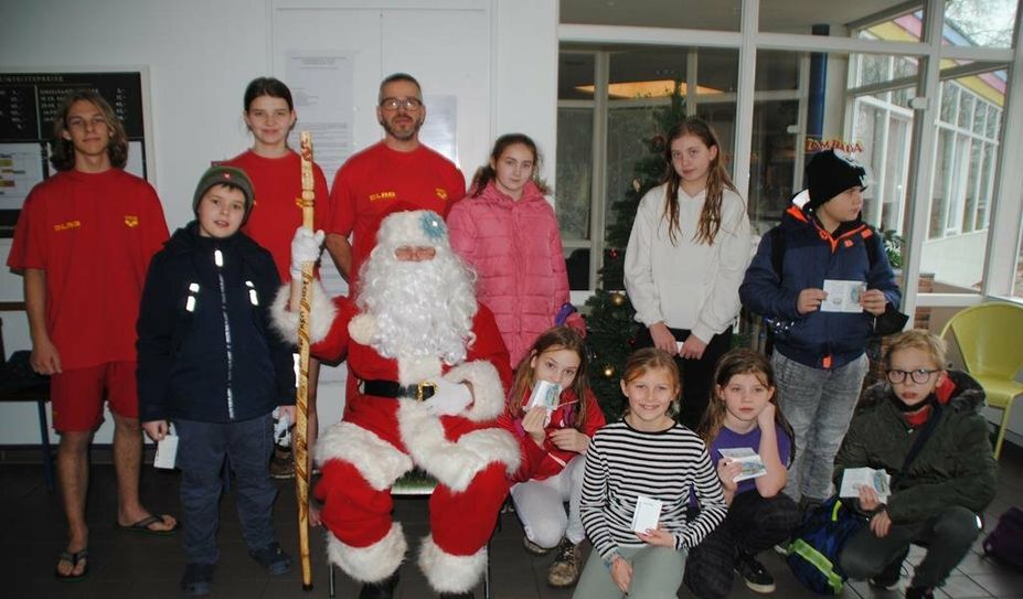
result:
[[(17, 452), (15, 452), (17, 453)], [(102, 460), (102, 451), (94, 459)], [(42, 480), (39, 466), (10, 463), (0, 460), (0, 598), (62, 598), (96, 597), (153, 598), (180, 597), (178, 580), (184, 567), (177, 538), (161, 538), (114, 528), (115, 480), (113, 468), (96, 464), (92, 469), (93, 485), (89, 492), (88, 521), (92, 526), (89, 577), (76, 584), (61, 584), (53, 579), (57, 554), (63, 549), (64, 523), (60, 499), (51, 494)], [(290, 482), (280, 484), (276, 522), (281, 544), (290, 552), (298, 545), (294, 511), (295, 493)], [(142, 480), (142, 496), (153, 510), (178, 513), (178, 477), (147, 467)], [(998, 499), (989, 507), (987, 522), (993, 526), (995, 517), (1010, 505), (1023, 504), (1023, 450), (1006, 446), (1000, 463)], [(401, 499), (397, 518), (405, 523), (412, 539), (426, 534), (426, 502), (420, 499)], [(491, 545), (493, 597), (495, 599), (567, 599), (567, 590), (546, 586), (546, 568), (551, 556), (534, 558), (521, 546), (522, 531), (514, 514), (502, 515), (502, 527)], [(268, 577), (248, 558), (238, 531), (234, 512), (234, 495), (228, 494), (222, 504), (220, 531), (221, 563), (214, 582), (214, 597), (283, 598), (327, 597), (327, 567), (323, 535), (311, 534), (312, 571), (315, 588), (301, 590), (299, 569), (278, 578)], [(978, 542), (976, 550), (979, 552)], [(910, 554), (909, 563), (918, 561), (920, 553)], [(775, 574), (778, 590), (775, 597), (817, 597), (804, 590), (788, 573), (781, 559), (766, 552), (761, 559)], [(908, 571), (908, 566), (907, 570)], [(906, 576), (902, 585), (905, 585)], [(902, 588), (902, 587), (901, 587)], [(358, 587), (344, 575), (338, 575), (338, 597), (354, 598)], [(876, 591), (866, 584), (846, 586), (846, 597), (902, 597), (902, 591)], [(1023, 573), (993, 564), (979, 553), (970, 554), (939, 592), (941, 597), (999, 597), (1023, 598)], [(412, 561), (402, 566), (402, 582), (397, 597), (416, 599), (434, 597)], [(477, 591), (482, 597), (482, 591)], [(679, 597), (691, 597), (682, 590)], [(758, 597), (737, 581), (729, 598)]]

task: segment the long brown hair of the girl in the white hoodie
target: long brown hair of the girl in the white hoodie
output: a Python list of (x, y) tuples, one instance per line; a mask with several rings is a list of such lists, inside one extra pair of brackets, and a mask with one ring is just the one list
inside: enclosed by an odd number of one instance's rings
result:
[(682, 175), (675, 171), (671, 161), (671, 142), (684, 136), (695, 136), (707, 148), (717, 148), (717, 156), (711, 161), (711, 168), (707, 171), (706, 199), (703, 202), (703, 212), (700, 213), (696, 234), (693, 236), (693, 240), (697, 244), (713, 245), (714, 237), (717, 236), (717, 232), (721, 229), (721, 203), (724, 190), (729, 189), (736, 194), (738, 190), (732, 183), (732, 178), (728, 177), (728, 171), (725, 170), (722, 161), (717, 133), (700, 117), (689, 117), (672, 127), (668, 131), (668, 142), (664, 143), (664, 160), (668, 162), (668, 169), (664, 173), (664, 182), (668, 183), (664, 190), (664, 218), (668, 220), (668, 237), (671, 239), (671, 245), (676, 244), (680, 227), (679, 202), (675, 197), (679, 194), (679, 186), (682, 184)]

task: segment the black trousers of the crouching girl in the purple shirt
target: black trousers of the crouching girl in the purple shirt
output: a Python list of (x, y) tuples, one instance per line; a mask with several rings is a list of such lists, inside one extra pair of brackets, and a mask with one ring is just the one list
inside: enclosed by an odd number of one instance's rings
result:
[(700, 599), (726, 597), (736, 553), (756, 555), (781, 543), (798, 523), (799, 506), (785, 493), (768, 499), (756, 491), (736, 495), (724, 522), (690, 549), (685, 586)]

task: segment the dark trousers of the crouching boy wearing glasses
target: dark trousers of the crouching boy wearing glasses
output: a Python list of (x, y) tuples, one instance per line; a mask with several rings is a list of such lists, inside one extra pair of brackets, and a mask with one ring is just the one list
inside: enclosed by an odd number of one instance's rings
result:
[(882, 538), (870, 526), (861, 528), (842, 549), (839, 563), (850, 578), (863, 580), (881, 574), (901, 558), (910, 543), (928, 547), (913, 575), (914, 587), (940, 587), (970, 550), (980, 535), (977, 514), (953, 505), (938, 517), (923, 522), (893, 524)]

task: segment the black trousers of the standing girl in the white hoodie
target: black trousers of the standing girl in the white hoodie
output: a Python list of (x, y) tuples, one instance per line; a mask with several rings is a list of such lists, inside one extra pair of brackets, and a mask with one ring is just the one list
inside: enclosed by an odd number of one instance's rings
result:
[[(685, 341), (689, 335), (689, 329), (668, 329), (674, 335), (675, 341)], [(636, 349), (652, 347), (653, 339), (650, 336), (650, 329), (643, 327), (639, 334), (636, 335)], [(679, 365), (679, 372), (682, 374), (682, 406), (679, 417), (680, 422), (692, 430), (696, 430), (700, 420), (703, 419), (703, 413), (707, 409), (707, 402), (711, 397), (711, 388), (714, 386), (714, 366), (717, 365), (718, 359), (728, 353), (732, 349), (732, 329), (725, 329), (711, 338), (706, 349), (703, 351), (703, 357), (700, 360), (682, 360), (675, 356), (675, 364)]]

